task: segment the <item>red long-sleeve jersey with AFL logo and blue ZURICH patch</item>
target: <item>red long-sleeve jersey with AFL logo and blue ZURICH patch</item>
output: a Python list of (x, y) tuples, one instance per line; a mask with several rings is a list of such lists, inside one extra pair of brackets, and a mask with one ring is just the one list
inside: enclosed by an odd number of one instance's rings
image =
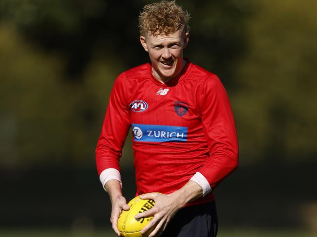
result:
[[(120, 172), (128, 131), (133, 131), (137, 195), (171, 193), (200, 172), (215, 187), (238, 162), (232, 109), (218, 77), (187, 61), (162, 84), (147, 63), (118, 76), (96, 148), (99, 175)], [(191, 204), (214, 200), (212, 192)]]

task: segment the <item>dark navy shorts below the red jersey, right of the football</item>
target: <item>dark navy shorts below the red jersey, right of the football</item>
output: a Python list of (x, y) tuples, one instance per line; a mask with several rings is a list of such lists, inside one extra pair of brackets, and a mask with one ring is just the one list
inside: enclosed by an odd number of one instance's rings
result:
[(216, 205), (212, 201), (179, 210), (161, 237), (216, 237), (217, 231)]

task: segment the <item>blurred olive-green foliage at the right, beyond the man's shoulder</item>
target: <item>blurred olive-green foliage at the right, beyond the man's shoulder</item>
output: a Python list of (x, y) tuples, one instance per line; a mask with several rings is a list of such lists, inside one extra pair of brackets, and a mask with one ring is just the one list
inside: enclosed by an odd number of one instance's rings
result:
[(246, 21), (248, 51), (232, 94), (241, 157), (271, 164), (317, 155), (316, 1), (260, 0)]

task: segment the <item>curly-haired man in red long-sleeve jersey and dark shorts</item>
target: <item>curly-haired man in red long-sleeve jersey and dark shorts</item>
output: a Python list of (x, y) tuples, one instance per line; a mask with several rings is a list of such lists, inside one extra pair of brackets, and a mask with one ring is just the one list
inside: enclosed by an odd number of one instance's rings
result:
[[(174, 1), (146, 5), (140, 41), (150, 63), (116, 79), (96, 149), (100, 181), (112, 204), (111, 218), (129, 210), (122, 196), (119, 159), (133, 131), (137, 195), (155, 206), (142, 230), (149, 237), (215, 237), (213, 188), (237, 167), (232, 109), (218, 77), (183, 58), (189, 14)], [(172, 222), (172, 223), (171, 223)]]

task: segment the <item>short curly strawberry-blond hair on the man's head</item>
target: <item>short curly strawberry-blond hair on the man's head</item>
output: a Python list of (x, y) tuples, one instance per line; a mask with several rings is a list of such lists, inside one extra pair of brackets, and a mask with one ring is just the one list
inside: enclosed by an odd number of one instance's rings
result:
[(190, 14), (184, 11), (175, 1), (160, 1), (143, 8), (139, 16), (140, 35), (169, 35), (178, 30), (190, 31), (188, 25)]

